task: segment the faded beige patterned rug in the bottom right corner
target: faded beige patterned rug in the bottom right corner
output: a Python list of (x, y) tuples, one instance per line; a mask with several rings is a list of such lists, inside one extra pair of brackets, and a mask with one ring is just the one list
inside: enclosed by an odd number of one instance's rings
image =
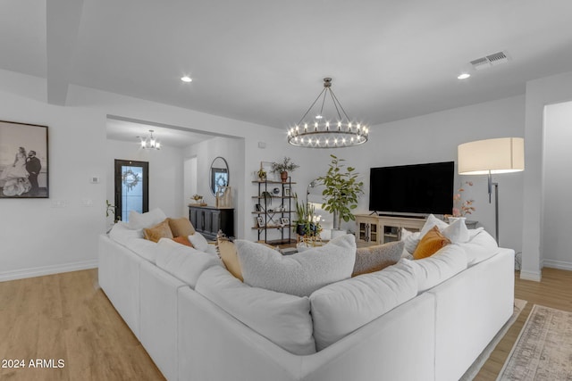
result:
[(572, 380), (572, 312), (534, 304), (501, 380)]

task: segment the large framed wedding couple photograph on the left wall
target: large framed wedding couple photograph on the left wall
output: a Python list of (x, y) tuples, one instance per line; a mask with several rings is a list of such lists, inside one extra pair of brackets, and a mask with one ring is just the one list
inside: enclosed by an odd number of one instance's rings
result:
[(0, 120), (0, 198), (49, 198), (47, 126)]

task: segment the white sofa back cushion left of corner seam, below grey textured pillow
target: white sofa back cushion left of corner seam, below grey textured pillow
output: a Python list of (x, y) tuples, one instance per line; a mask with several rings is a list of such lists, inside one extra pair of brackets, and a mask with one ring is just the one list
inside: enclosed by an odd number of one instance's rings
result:
[(284, 350), (299, 355), (315, 352), (307, 297), (245, 285), (222, 267), (207, 269), (198, 278), (196, 291)]

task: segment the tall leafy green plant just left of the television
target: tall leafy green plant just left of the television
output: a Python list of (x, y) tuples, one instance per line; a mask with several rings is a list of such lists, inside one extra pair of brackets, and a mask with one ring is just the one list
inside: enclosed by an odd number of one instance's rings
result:
[(330, 156), (330, 168), (326, 175), (318, 180), (325, 186), (322, 192), (325, 199), (322, 209), (333, 214), (333, 228), (339, 230), (342, 219), (346, 222), (356, 219), (351, 211), (357, 208), (357, 198), (364, 193), (364, 183), (357, 181), (355, 168), (345, 167), (342, 163), (345, 162), (344, 159), (338, 159), (332, 154)]

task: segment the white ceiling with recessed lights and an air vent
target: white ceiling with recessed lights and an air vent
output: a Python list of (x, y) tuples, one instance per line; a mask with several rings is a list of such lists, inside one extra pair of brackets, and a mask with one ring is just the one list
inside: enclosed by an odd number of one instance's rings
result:
[[(570, 0), (7, 0), (0, 69), (47, 78), (52, 104), (77, 84), (273, 128), (329, 76), (375, 125), (572, 70), (571, 16)], [(509, 63), (457, 79), (500, 51)]]

